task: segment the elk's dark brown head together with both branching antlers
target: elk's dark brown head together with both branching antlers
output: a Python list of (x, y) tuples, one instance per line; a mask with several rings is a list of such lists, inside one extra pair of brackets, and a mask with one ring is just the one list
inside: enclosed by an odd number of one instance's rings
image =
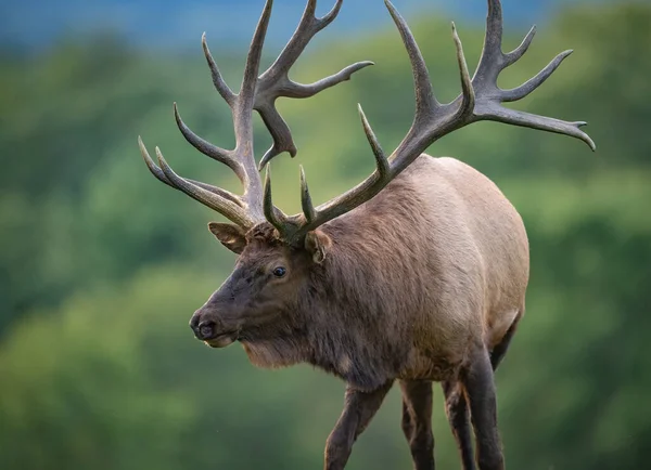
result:
[[(528, 49), (535, 29), (522, 44), (510, 53), (501, 50), (502, 14), (499, 0), (488, 0), (487, 29), (480, 64), (471, 78), (461, 41), (452, 24), (452, 38), (461, 77), (461, 94), (448, 104), (439, 103), (432, 89), (429, 71), (409, 27), (392, 3), (386, 6), (399, 30), (411, 61), (416, 89), (413, 125), (398, 147), (387, 157), (375, 138), (361, 107), (363, 130), (375, 156), (376, 169), (363, 182), (345, 194), (321, 206), (312, 205), (305, 173), (301, 169), (302, 213), (286, 216), (271, 199), (269, 162), (283, 152), (296, 154), (290, 129), (276, 109), (278, 97), (309, 97), (322, 90), (348, 80), (371, 62), (350, 65), (340, 73), (311, 84), (296, 83), (289, 70), (311, 38), (337, 15), (343, 0), (337, 0), (330, 13), (316, 17), (316, 0), (308, 0), (301, 23), (276, 62), (258, 76), (263, 43), (271, 14), (272, 1), (267, 0), (248, 52), (241, 91), (235, 94), (224, 81), (203, 38), (203, 49), (212, 71), (213, 82), (230, 106), (233, 116), (234, 149), (217, 147), (193, 133), (179, 116), (175, 104), (177, 125), (186, 140), (208, 157), (227, 165), (245, 187), (242, 196), (176, 174), (156, 147), (158, 165), (150, 157), (141, 140), (140, 151), (151, 172), (163, 183), (179, 190), (213, 208), (232, 224), (212, 223), (209, 230), (231, 251), (239, 254), (230, 277), (195, 312), (191, 327), (196, 337), (213, 347), (225, 347), (238, 339), (264, 340), (288, 329), (305, 327), (307, 312), (299, 304), (301, 296), (314, 282), (312, 274), (328, 269), (329, 251), (336, 246), (319, 227), (352, 211), (374, 197), (396, 175), (418, 158), (439, 138), (480, 120), (493, 120), (571, 135), (595, 144), (580, 130), (585, 122), (566, 122), (549, 117), (518, 112), (501, 106), (505, 102), (521, 100), (538, 88), (572, 51), (559, 54), (536, 77), (521, 87), (502, 90), (497, 86), (498, 75), (513, 65)], [(253, 110), (261, 116), (273, 138), (273, 145), (255, 164), (253, 147)], [(258, 170), (267, 168), (263, 185)], [(322, 278), (322, 277), (321, 277)]]

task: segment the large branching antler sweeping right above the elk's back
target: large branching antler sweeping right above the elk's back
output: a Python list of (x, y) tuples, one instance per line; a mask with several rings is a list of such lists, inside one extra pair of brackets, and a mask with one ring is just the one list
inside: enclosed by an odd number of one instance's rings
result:
[(303, 213), (288, 217), (271, 200), (270, 173), (267, 171), (265, 182), (264, 211), (267, 220), (288, 240), (296, 240), (307, 232), (319, 225), (342, 216), (360, 206), (375, 196), (395, 177), (416, 160), (432, 143), (442, 136), (480, 120), (493, 120), (515, 126), (528, 127), (549, 132), (557, 132), (580, 139), (592, 151), (596, 149), (592, 140), (580, 130), (586, 122), (567, 122), (559, 119), (533, 115), (501, 106), (501, 103), (521, 100), (532, 93), (547, 80), (558, 68), (561, 62), (572, 51), (559, 54), (536, 77), (521, 87), (512, 90), (501, 90), (497, 86), (499, 74), (513, 65), (524, 55), (535, 34), (535, 27), (526, 35), (522, 44), (513, 52), (505, 54), (501, 50), (502, 39), (502, 11), (499, 0), (488, 0), (488, 16), (486, 21), (486, 37), (480, 65), (471, 79), (463, 48), (455, 24), (452, 23), (452, 38), (457, 49), (457, 60), (461, 75), (461, 94), (449, 104), (441, 104), (430, 81), (430, 74), (423, 56), (416, 43), (413, 35), (407, 23), (396, 11), (393, 4), (385, 0), (403, 42), (411, 61), (416, 89), (416, 117), (411, 129), (387, 158), (380, 146), (371, 126), (369, 125), (361, 106), (359, 114), (365, 133), (376, 161), (376, 170), (363, 182), (353, 187), (343, 195), (315, 208), (311, 204), (308, 186), (303, 168), (301, 169), (302, 206)]

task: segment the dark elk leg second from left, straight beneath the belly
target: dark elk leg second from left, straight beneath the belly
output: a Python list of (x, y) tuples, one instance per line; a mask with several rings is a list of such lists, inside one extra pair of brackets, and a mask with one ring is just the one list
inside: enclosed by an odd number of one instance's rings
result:
[(401, 380), (400, 389), (403, 389), (403, 432), (409, 442), (413, 468), (434, 470), (432, 382)]

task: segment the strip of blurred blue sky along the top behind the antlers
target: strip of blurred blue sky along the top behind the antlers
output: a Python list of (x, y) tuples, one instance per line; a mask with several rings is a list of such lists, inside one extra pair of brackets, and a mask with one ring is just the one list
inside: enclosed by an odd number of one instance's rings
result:
[[(544, 23), (559, 4), (582, 0), (502, 0), (511, 27)], [(589, 2), (590, 0), (583, 0)], [(613, 1), (613, 0), (611, 0)], [(0, 42), (44, 45), (61, 36), (116, 31), (129, 41), (154, 48), (196, 45), (205, 30), (213, 40), (247, 41), (264, 0), (1, 0)], [(319, 12), (334, 0), (320, 0)], [(485, 0), (394, 0), (406, 15), (423, 10), (447, 18), (481, 21)], [(285, 40), (298, 21), (304, 0), (276, 0), (271, 41)], [(382, 0), (345, 0), (330, 35), (365, 32), (390, 22)]]

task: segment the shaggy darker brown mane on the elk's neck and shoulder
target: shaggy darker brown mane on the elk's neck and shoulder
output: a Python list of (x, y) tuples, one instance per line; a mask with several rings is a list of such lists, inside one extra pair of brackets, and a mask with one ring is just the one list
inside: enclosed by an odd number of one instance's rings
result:
[[(401, 338), (409, 326), (395, 312), (422, 310), (425, 286), (408, 275), (427, 259), (418, 243), (419, 227), (427, 226), (418, 207), (410, 179), (399, 179), (323, 225), (333, 245), (323, 264), (311, 270), (305, 284), (311, 291), (298, 297), (309, 322), (306, 360), (362, 389), (395, 377), (407, 360), (409, 344)], [(396, 220), (401, 222), (392, 223)]]

